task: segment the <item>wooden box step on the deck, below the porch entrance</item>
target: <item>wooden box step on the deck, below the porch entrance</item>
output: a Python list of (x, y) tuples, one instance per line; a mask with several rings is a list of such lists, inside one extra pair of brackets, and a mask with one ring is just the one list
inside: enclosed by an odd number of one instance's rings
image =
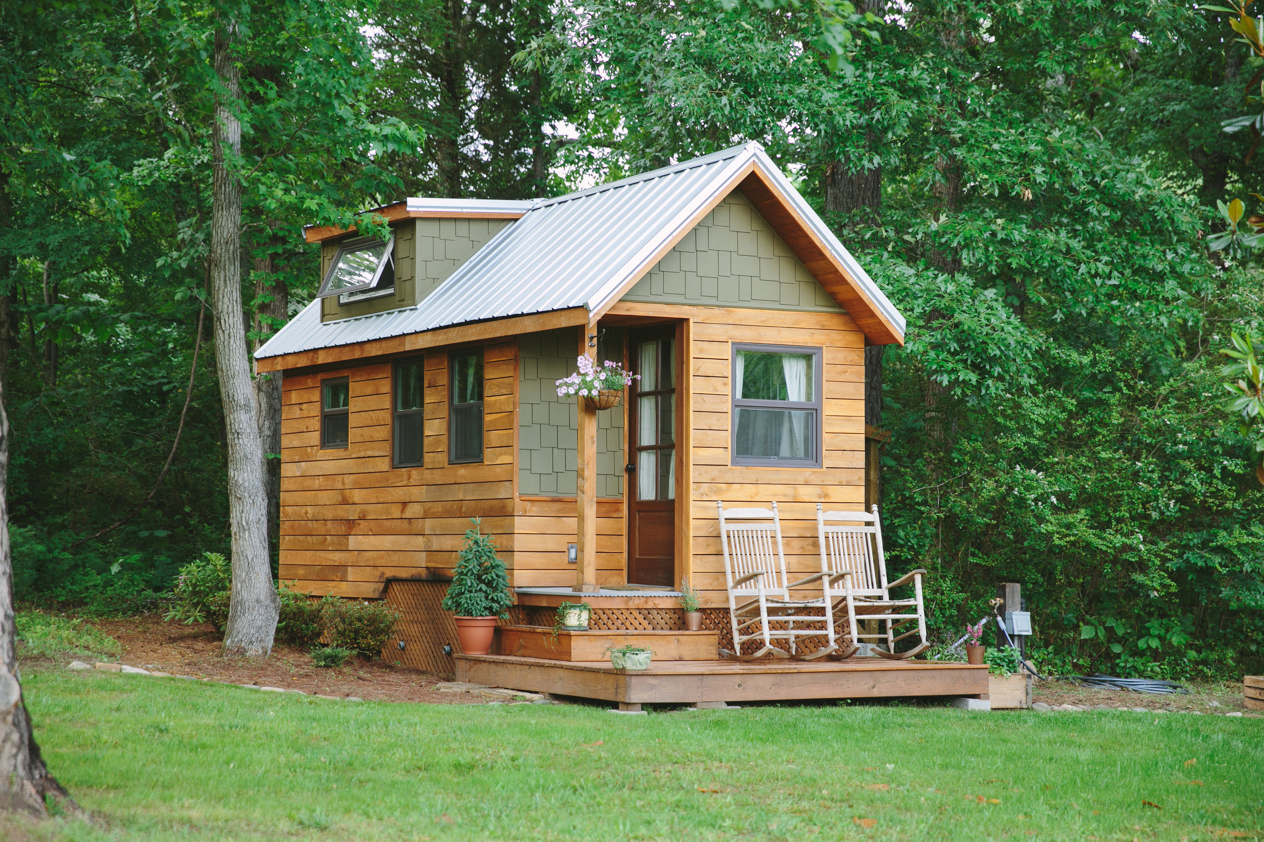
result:
[(602, 628), (586, 632), (545, 626), (501, 626), (501, 655), (555, 661), (605, 661), (618, 646), (645, 646), (655, 661), (707, 661), (719, 657), (719, 632)]

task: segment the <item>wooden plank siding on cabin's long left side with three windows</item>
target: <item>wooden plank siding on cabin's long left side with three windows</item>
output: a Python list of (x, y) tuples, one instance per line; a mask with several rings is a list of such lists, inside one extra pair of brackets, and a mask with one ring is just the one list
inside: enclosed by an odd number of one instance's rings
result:
[[(375, 363), (282, 382), (281, 578), (379, 597), (388, 577), (449, 575), (470, 517), (513, 564), (516, 346), (484, 345), (484, 461), (447, 464), (447, 353), (426, 358), (423, 468), (392, 468), (391, 372)], [(320, 382), (350, 378), (350, 446), (320, 449)]]

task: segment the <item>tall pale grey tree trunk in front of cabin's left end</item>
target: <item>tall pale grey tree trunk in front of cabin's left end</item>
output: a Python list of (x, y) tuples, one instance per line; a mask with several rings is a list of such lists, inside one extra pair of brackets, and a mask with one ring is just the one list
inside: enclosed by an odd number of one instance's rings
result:
[(263, 446), (241, 310), (241, 185), (234, 172), (241, 152), (241, 124), (233, 113), (240, 99), (241, 71), (231, 49), (235, 37), (235, 20), (222, 21), (215, 33), (215, 72), (224, 94), (215, 101), (211, 134), (211, 307), (215, 311), (215, 367), (224, 402), (233, 531), (233, 597), (224, 632), (224, 656), (267, 657), (277, 631), (279, 601), (268, 560)]

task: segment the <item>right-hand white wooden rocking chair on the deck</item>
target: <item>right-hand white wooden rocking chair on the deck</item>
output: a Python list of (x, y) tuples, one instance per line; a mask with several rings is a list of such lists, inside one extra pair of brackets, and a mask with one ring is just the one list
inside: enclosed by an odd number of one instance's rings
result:
[[(834, 614), (838, 616), (843, 608), (847, 609), (846, 636), (851, 638), (851, 644), (885, 642), (886, 650), (873, 646), (871, 651), (887, 660), (913, 657), (930, 646), (927, 642), (927, 614), (921, 604), (921, 578), (927, 571), (914, 570), (895, 582), (886, 580), (886, 556), (882, 552), (882, 527), (877, 517), (877, 506), (872, 513), (825, 512), (820, 503), (817, 503), (817, 531), (822, 570), (832, 574), (825, 579), (825, 588), (830, 593)], [(913, 599), (891, 599), (891, 588), (910, 582)], [(857, 617), (885, 621), (886, 631), (861, 633)], [(918, 623), (916, 628), (896, 635), (901, 627), (914, 621)], [(916, 635), (920, 642), (906, 652), (896, 654), (895, 645), (913, 635)], [(848, 646), (848, 649), (851, 651), (838, 657), (854, 655), (856, 647)]]

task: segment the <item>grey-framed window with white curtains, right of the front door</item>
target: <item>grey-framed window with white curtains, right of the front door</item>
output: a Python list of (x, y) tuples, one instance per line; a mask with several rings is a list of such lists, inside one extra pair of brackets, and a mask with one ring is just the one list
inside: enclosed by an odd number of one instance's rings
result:
[(820, 349), (733, 345), (733, 464), (820, 467)]

